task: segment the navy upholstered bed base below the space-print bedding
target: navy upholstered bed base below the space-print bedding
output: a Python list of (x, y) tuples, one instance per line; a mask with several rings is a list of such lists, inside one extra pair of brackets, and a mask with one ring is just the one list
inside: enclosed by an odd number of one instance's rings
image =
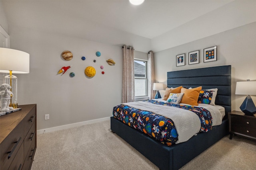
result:
[(228, 120), (225, 119), (221, 125), (212, 127), (212, 130), (207, 133), (198, 133), (184, 143), (168, 147), (114, 117), (111, 117), (110, 121), (112, 132), (138, 150), (160, 170), (178, 170), (228, 135)]

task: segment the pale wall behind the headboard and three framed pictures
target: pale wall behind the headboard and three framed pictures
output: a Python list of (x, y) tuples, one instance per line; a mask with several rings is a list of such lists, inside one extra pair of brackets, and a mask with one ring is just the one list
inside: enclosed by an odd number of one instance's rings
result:
[[(166, 49), (154, 54), (155, 82), (166, 84), (166, 72), (204, 68), (209, 66), (232, 66), (232, 110), (240, 111), (246, 96), (235, 95), (237, 81), (256, 81), (256, 22), (224, 31), (203, 39)], [(217, 45), (217, 61), (203, 62), (203, 49)], [(188, 65), (188, 53), (200, 50), (200, 63)], [(176, 55), (186, 53), (185, 66), (176, 67)], [(161, 95), (164, 90), (161, 91)], [(256, 104), (256, 97), (252, 96)]]

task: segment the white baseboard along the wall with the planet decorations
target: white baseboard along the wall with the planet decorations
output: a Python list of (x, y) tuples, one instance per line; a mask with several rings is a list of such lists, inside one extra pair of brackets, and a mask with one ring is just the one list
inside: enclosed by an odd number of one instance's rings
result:
[(68, 124), (68, 125), (50, 127), (50, 128), (47, 128), (47, 129), (40, 129), (40, 130), (37, 130), (36, 133), (37, 133), (37, 135), (39, 135), (39, 134), (43, 134), (43, 133), (59, 131), (59, 130), (68, 129), (68, 128), (71, 128), (71, 127), (78, 127), (78, 126), (82, 126), (82, 125), (89, 125), (89, 124), (92, 124), (92, 123), (98, 123), (98, 122), (107, 121), (107, 120), (110, 120), (110, 117), (105, 117), (105, 118), (101, 118), (101, 119), (94, 119), (94, 120), (89, 120), (89, 121), (82, 121), (82, 122), (72, 123), (72, 124)]

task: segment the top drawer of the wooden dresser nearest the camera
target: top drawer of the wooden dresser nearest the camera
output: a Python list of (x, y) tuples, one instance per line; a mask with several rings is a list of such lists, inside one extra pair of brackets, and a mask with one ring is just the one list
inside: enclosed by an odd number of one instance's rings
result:
[(20, 123), (10, 132), (4, 141), (2, 141), (0, 146), (0, 169), (7, 170), (14, 160), (20, 146), (23, 144), (24, 140), (24, 121)]

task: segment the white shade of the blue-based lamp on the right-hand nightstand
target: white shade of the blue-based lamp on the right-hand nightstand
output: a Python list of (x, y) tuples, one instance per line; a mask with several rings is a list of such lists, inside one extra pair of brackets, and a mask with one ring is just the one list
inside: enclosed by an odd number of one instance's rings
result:
[(256, 81), (236, 82), (236, 94), (256, 95)]

